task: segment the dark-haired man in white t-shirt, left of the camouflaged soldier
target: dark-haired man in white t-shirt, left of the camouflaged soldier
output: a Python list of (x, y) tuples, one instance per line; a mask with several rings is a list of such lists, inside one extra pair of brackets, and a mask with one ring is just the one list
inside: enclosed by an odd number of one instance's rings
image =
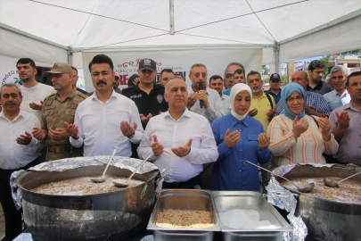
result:
[[(46, 96), (50, 96), (56, 93), (56, 90), (48, 85), (37, 82), (35, 76), (37, 74), (37, 68), (35, 62), (29, 58), (22, 58), (16, 63), (18, 69), (19, 78), (22, 81), (21, 95), (21, 111), (29, 112), (37, 116), (37, 120), (40, 119), (41, 106)], [(45, 141), (39, 142), (41, 151), (40, 162), (45, 162)]]

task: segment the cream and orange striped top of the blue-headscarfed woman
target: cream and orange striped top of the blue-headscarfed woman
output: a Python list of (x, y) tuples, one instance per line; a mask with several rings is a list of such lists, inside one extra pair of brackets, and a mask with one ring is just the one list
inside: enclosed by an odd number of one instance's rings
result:
[[(268, 146), (276, 166), (291, 163), (325, 163), (325, 154), (336, 154), (339, 145), (333, 134), (331, 140), (324, 142), (322, 134), (312, 117), (305, 115), (309, 127), (298, 138), (293, 137), (293, 120), (284, 114), (276, 116), (268, 126), (267, 135), (271, 137)], [(318, 117), (315, 117), (318, 120)]]

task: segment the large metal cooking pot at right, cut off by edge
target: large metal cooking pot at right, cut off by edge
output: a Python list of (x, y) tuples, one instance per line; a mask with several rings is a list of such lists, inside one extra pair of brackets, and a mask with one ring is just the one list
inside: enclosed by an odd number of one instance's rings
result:
[[(277, 173), (277, 169), (274, 170)], [(283, 176), (287, 179), (302, 177), (347, 178), (360, 171), (357, 167), (335, 165), (315, 167), (298, 165)], [(275, 178), (278, 181), (283, 179)], [(361, 176), (351, 178), (361, 181)], [(308, 227), (306, 240), (361, 240), (361, 204), (349, 204), (299, 194), (295, 214), (301, 216)]]

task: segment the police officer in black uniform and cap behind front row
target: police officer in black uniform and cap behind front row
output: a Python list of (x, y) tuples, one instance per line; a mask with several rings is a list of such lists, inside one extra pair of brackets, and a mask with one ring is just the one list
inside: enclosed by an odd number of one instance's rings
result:
[[(157, 65), (146, 58), (139, 62), (138, 75), (140, 81), (134, 87), (124, 88), (122, 95), (135, 102), (138, 107), (143, 128), (153, 116), (168, 111), (168, 103), (164, 99), (164, 86), (154, 82), (157, 76)], [(136, 147), (132, 145), (132, 157), (137, 158)]]

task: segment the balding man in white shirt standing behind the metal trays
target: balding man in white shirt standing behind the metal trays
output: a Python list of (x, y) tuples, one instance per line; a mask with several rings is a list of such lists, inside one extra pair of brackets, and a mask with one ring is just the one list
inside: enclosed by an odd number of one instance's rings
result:
[(180, 76), (168, 79), (164, 98), (168, 112), (153, 117), (145, 129), (138, 155), (166, 169), (164, 188), (200, 188), (202, 164), (216, 162), (217, 145), (209, 120), (186, 108), (187, 87)]

